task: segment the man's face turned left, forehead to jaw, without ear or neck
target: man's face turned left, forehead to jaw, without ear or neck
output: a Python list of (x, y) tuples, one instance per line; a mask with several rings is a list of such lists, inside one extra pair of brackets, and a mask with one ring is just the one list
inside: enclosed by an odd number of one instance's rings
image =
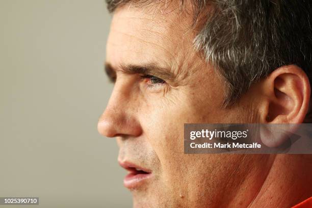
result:
[(246, 123), (257, 115), (248, 93), (221, 107), (224, 81), (193, 49), (192, 17), (168, 11), (114, 13), (106, 62), (117, 79), (98, 131), (117, 138), (135, 207), (222, 206), (262, 180), (257, 168), (269, 156), (184, 154), (184, 123)]

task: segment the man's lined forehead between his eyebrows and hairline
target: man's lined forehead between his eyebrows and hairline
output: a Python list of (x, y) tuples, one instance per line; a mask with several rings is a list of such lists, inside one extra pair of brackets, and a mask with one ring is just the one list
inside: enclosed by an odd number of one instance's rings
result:
[(133, 61), (161, 62), (164, 67), (177, 64), (193, 50), (191, 25), (191, 16), (181, 15), (178, 9), (124, 6), (112, 19), (107, 61), (112, 65)]

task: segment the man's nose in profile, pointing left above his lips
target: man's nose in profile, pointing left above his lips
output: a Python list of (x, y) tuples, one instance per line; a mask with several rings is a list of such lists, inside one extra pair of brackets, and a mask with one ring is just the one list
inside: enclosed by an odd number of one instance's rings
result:
[(138, 137), (142, 134), (137, 119), (137, 99), (131, 91), (115, 84), (109, 103), (97, 124), (99, 134), (105, 137)]

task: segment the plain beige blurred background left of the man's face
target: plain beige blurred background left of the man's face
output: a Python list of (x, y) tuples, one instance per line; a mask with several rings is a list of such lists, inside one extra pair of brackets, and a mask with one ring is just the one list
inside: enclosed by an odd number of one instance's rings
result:
[(0, 197), (132, 206), (116, 141), (96, 129), (110, 20), (104, 0), (0, 0)]

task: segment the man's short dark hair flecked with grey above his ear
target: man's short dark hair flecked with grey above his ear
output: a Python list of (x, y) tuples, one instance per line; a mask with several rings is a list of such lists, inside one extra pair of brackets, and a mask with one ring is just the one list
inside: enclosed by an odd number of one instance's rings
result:
[[(177, 0), (179, 5), (185, 0)], [(108, 9), (150, 0), (107, 0)], [(310, 0), (190, 0), (194, 22), (205, 19), (194, 47), (225, 79), (224, 106), (273, 70), (295, 64), (311, 83), (312, 3)], [(207, 12), (207, 8), (212, 8)]]

